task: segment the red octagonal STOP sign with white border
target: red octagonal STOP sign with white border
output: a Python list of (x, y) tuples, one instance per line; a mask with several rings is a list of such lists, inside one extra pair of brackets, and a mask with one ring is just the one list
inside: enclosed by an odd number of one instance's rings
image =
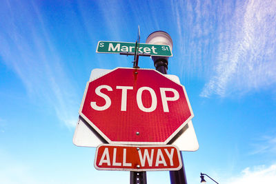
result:
[(134, 68), (89, 81), (79, 114), (108, 143), (139, 145), (166, 144), (193, 118), (183, 85)]

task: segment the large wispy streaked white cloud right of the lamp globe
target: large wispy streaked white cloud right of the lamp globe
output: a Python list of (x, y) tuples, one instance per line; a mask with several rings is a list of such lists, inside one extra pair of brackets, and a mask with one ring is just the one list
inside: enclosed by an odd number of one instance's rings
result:
[(276, 1), (172, 0), (171, 6), (181, 77), (206, 81), (201, 96), (275, 88)]

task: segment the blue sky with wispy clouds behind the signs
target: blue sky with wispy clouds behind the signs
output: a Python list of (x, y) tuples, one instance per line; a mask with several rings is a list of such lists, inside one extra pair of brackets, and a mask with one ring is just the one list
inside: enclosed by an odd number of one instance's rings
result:
[[(0, 6), (0, 183), (129, 183), (98, 171), (72, 137), (92, 69), (132, 67), (98, 41), (172, 37), (199, 150), (182, 152), (188, 183), (276, 180), (276, 1), (8, 1)], [(140, 57), (140, 68), (152, 68)], [(188, 141), (188, 140), (187, 140)], [(170, 183), (169, 172), (147, 172)], [(208, 183), (212, 183), (206, 178)]]

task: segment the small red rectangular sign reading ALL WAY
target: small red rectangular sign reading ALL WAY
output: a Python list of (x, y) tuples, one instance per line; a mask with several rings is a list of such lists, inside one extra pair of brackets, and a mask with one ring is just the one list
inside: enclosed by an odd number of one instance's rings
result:
[(97, 170), (160, 171), (180, 170), (180, 152), (174, 145), (99, 145)]

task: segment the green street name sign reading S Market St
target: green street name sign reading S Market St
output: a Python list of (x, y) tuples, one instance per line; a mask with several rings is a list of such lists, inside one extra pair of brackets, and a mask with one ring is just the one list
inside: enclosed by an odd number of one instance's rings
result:
[[(137, 48), (139, 54), (150, 54), (151, 56), (172, 57), (172, 52), (168, 45), (152, 45), (140, 43)], [(135, 43), (118, 41), (99, 41), (97, 53), (120, 53), (135, 52)]]

